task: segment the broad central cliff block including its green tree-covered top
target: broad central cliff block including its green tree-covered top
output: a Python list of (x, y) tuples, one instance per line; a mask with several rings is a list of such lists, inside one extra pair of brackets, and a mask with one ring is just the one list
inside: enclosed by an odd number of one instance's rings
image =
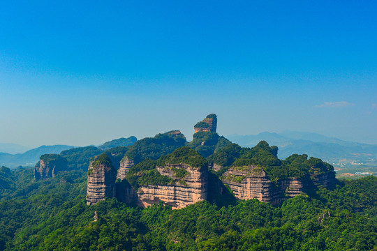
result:
[(145, 160), (126, 175), (137, 191), (137, 204), (150, 206), (158, 201), (183, 208), (207, 199), (207, 162), (201, 155), (182, 147), (158, 160)]

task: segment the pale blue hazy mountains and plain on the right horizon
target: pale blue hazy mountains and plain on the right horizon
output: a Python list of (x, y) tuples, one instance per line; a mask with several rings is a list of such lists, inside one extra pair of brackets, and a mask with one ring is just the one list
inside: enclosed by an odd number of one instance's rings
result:
[(261, 132), (258, 135), (228, 135), (230, 141), (240, 146), (255, 146), (261, 140), (279, 147), (279, 158), (285, 159), (293, 153), (306, 153), (330, 163), (376, 164), (377, 145), (346, 142), (313, 132), (285, 131)]

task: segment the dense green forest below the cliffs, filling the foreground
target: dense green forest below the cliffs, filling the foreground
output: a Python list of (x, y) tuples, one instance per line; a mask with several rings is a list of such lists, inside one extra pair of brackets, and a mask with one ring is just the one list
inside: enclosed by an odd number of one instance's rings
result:
[[(377, 178), (339, 183), (280, 206), (256, 199), (179, 210), (85, 202), (86, 172), (34, 181), (0, 169), (0, 250), (372, 250)], [(94, 220), (94, 215), (98, 220)]]

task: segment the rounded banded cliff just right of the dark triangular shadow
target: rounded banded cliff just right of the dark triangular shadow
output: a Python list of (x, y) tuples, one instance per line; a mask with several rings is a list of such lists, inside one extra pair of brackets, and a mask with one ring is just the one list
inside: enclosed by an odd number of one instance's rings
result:
[(229, 185), (237, 199), (271, 200), (273, 184), (265, 171), (256, 165), (231, 167), (222, 176), (223, 183)]

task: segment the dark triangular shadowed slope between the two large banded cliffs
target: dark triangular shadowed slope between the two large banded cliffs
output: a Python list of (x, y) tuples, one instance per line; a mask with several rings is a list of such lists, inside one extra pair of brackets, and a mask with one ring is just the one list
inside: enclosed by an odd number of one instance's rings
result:
[(208, 199), (216, 206), (229, 206), (237, 204), (237, 199), (223, 184), (216, 174), (209, 172), (208, 175)]

